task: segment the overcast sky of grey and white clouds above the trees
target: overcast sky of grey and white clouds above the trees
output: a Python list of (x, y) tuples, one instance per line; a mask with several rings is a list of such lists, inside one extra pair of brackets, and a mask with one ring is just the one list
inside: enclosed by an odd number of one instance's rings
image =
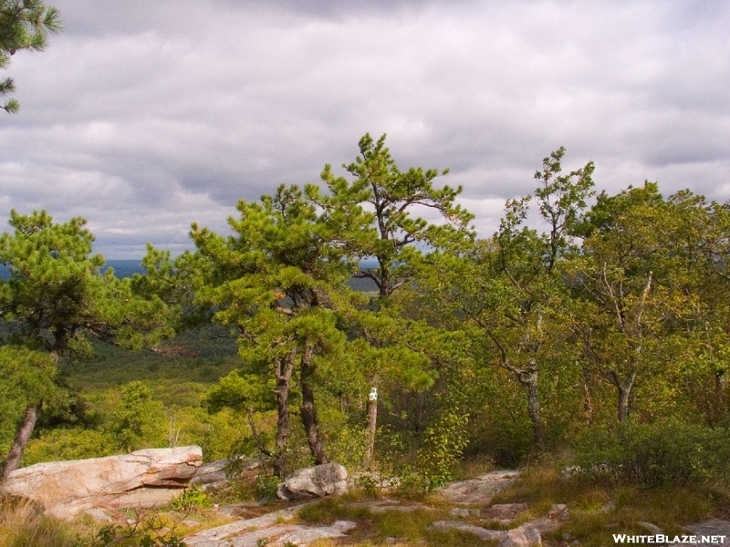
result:
[(730, 2), (54, 0), (0, 112), (0, 222), (81, 215), (107, 258), (225, 231), (239, 198), (318, 181), (388, 134), (449, 167), (481, 235), (547, 154), (600, 190), (730, 199)]

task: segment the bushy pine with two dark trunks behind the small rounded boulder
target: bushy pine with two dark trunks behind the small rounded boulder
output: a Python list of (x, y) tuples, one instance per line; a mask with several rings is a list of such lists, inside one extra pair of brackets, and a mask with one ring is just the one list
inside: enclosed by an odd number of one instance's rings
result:
[(235, 326), (247, 364), (273, 372), (277, 432), (274, 469), (287, 471), (289, 391), (298, 378), (299, 413), (317, 463), (328, 461), (318, 430), (315, 377), (319, 363), (336, 355), (346, 335), (342, 308), (356, 295), (345, 284), (353, 273), (349, 234), (370, 222), (348, 192), (324, 196), (314, 185), (280, 186), (261, 201), (239, 201), (235, 235), (223, 237), (193, 224), (199, 303), (214, 320)]

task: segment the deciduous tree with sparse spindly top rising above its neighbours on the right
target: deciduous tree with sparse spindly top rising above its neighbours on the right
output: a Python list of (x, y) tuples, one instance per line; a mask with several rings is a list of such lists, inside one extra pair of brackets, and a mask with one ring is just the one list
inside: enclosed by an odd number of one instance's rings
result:
[(558, 264), (575, 252), (570, 230), (592, 192), (593, 163), (561, 173), (565, 149), (543, 160), (535, 179), (540, 217), (547, 232), (525, 225), (532, 196), (506, 202), (498, 232), (461, 254), (433, 254), (432, 291), (443, 294), (443, 309), (451, 310), (464, 328), (484, 342), (487, 356), (508, 370), (527, 391), (527, 413), (535, 444), (545, 440), (538, 371), (561, 336), (556, 320), (565, 287)]

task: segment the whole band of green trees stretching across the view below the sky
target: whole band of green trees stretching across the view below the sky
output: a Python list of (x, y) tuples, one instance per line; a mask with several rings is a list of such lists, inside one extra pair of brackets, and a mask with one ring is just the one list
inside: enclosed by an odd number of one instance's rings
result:
[[(400, 170), (366, 135), (347, 176), (327, 165), (320, 185), (239, 201), (230, 235), (193, 223), (193, 252), (150, 247), (146, 274), (124, 280), (99, 273), (81, 219), (13, 212), (0, 238), (5, 472), (38, 412), (68, 398), (59, 361), (213, 322), (241, 366), (206, 408), (245, 417), (279, 476), (305, 445), (317, 463), (400, 466), (422, 488), (464, 454), (560, 452), (651, 483), (722, 474), (730, 209), (652, 182), (596, 197), (593, 164), (564, 173), (564, 153), (479, 239), (462, 189), (435, 184), (447, 170)], [(352, 276), (377, 291), (353, 291)]]

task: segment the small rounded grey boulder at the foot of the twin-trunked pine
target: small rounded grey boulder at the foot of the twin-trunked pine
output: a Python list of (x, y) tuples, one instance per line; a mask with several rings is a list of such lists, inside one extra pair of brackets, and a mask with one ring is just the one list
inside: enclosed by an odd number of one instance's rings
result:
[(280, 500), (305, 500), (340, 496), (348, 491), (348, 471), (339, 463), (325, 463), (296, 470), (278, 486)]

